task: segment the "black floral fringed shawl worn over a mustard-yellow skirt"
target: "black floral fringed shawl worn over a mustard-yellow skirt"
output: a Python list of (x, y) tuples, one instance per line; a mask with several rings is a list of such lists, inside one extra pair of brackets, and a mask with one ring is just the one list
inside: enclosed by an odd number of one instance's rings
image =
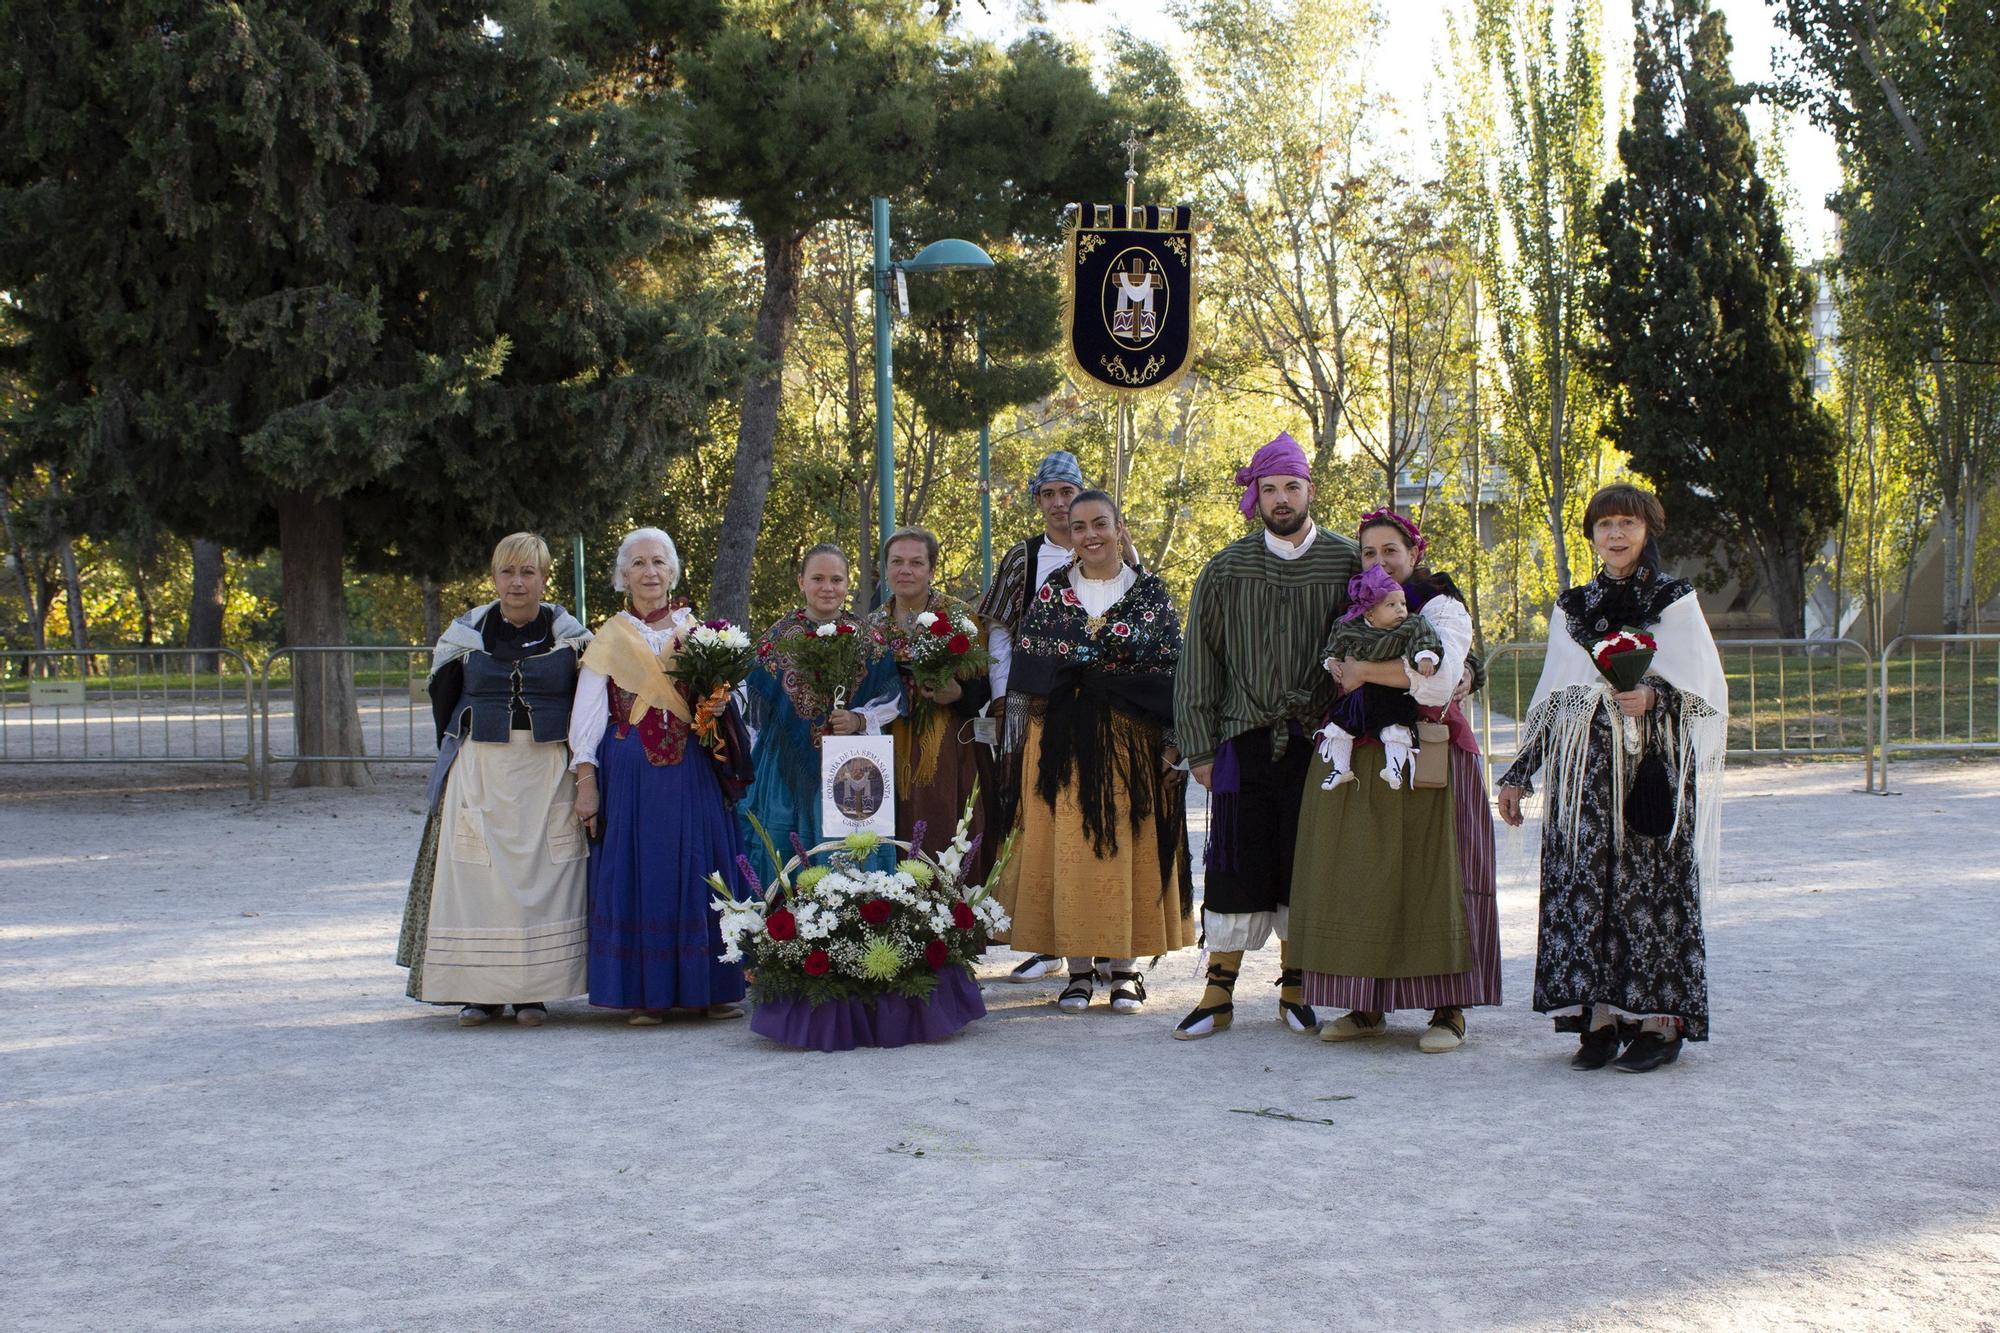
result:
[(1178, 869), (1180, 907), (1192, 911), (1188, 779), (1164, 763), (1180, 616), (1166, 584), (1144, 572), (1102, 616), (1090, 616), (1070, 584), (1074, 572), (1074, 564), (1056, 570), (1030, 600), (1008, 673), (1008, 691), (1028, 695), (1042, 719), (1034, 791), (1056, 809), (1056, 797), (1074, 783), (1084, 833), (1100, 857), (1118, 853), (1122, 793), (1134, 833), (1154, 821), (1160, 891)]

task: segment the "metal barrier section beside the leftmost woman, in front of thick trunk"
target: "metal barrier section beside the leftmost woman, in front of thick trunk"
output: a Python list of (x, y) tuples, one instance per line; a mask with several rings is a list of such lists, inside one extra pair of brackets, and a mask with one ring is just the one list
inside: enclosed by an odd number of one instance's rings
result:
[[(298, 715), (298, 685), (312, 681), (316, 699), (328, 701), (326, 685), (350, 671), (360, 731), (350, 743), (306, 749), (300, 743), (304, 719)], [(428, 644), (386, 646), (296, 646), (264, 658), (258, 693), (264, 701), (264, 797), (270, 797), (272, 769), (296, 763), (428, 765), (438, 757), (430, 695)], [(278, 725), (272, 725), (272, 719)], [(290, 727), (286, 727), (290, 723)], [(316, 735), (340, 735), (340, 719), (322, 713)], [(290, 733), (290, 747), (278, 749)]]

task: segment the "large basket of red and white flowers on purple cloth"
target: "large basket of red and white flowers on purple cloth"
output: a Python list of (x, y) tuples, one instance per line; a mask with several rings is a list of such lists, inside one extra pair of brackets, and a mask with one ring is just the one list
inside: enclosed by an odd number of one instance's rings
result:
[[(972, 793), (978, 801), (978, 793)], [(762, 897), (736, 899), (722, 875), (712, 873), (714, 909), (722, 915), (722, 961), (750, 961), (750, 997), (762, 1001), (804, 999), (826, 1005), (842, 999), (900, 995), (926, 999), (938, 973), (950, 967), (972, 971), (986, 935), (1004, 931), (1008, 915), (978, 885), (960, 883), (978, 839), (966, 837), (972, 801), (950, 847), (938, 857), (922, 851), (922, 825), (912, 843), (854, 833), (834, 843), (806, 849), (778, 869)], [(750, 817), (764, 847), (770, 837)], [(864, 859), (884, 843), (906, 853), (894, 871), (862, 869)], [(1012, 845), (1012, 839), (1008, 839)], [(1010, 847), (1000, 849), (1000, 865)], [(824, 865), (814, 865), (816, 857)], [(772, 849), (772, 863), (776, 863)], [(748, 857), (738, 861), (754, 883)]]

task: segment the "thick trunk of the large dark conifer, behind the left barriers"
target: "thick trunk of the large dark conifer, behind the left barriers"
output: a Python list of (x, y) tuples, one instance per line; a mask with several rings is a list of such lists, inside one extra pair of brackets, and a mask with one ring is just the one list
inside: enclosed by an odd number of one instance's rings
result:
[[(336, 500), (292, 494), (278, 502), (278, 554), (284, 560), (284, 640), (288, 646), (346, 646), (348, 598), (342, 570), (346, 536)], [(362, 755), (362, 719), (354, 699), (354, 656), (306, 652), (292, 658), (292, 735), (300, 755)], [(306, 761), (292, 765), (292, 787), (368, 787), (368, 765)]]

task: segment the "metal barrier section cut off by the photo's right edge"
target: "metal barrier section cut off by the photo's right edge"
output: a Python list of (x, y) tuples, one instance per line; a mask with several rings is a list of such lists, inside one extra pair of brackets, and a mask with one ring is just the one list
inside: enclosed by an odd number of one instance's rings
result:
[(1900, 634), (1882, 648), (1876, 693), (1884, 797), (1890, 751), (2000, 751), (2000, 634)]

